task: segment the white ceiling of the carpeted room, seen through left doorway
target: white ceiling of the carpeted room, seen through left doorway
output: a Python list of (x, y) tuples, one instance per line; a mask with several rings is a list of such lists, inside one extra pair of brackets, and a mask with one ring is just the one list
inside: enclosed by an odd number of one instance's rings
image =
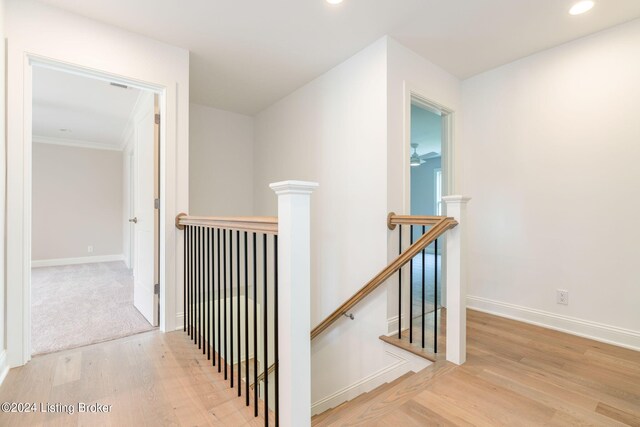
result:
[[(140, 90), (36, 66), (33, 135), (85, 146), (121, 148)], [(61, 131), (67, 129), (67, 131)], [(40, 138), (42, 140), (42, 138)]]

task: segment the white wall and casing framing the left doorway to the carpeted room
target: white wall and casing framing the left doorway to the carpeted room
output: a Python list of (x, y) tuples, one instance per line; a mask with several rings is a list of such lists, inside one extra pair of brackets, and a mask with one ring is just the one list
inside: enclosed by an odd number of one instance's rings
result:
[[(182, 234), (175, 216), (189, 210), (189, 52), (120, 28), (105, 25), (33, 0), (7, 2), (8, 174), (7, 174), (7, 316), (8, 355), (12, 366), (29, 360), (31, 68), (27, 55), (123, 76), (141, 86), (160, 88), (162, 148), (160, 300), (161, 330), (182, 328)], [(27, 92), (25, 92), (25, 90)]]

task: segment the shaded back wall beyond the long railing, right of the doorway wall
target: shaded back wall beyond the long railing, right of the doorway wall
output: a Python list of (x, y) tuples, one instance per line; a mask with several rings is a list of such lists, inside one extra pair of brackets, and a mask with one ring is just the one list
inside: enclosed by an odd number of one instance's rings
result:
[(253, 215), (253, 118), (189, 107), (189, 213)]

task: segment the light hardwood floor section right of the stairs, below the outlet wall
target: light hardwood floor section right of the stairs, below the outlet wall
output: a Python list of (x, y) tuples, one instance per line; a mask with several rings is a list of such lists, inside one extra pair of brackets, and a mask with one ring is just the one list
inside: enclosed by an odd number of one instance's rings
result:
[(468, 359), (439, 360), (314, 426), (640, 426), (640, 352), (468, 311)]

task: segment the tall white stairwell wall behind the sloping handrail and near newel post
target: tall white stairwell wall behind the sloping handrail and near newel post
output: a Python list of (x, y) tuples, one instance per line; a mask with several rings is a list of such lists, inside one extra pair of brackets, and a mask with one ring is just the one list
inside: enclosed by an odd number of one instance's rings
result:
[[(256, 214), (277, 214), (270, 182), (320, 184), (311, 200), (312, 325), (386, 263), (386, 45), (379, 40), (255, 119)], [(354, 314), (312, 344), (314, 403), (393, 363), (378, 339), (384, 293)]]

